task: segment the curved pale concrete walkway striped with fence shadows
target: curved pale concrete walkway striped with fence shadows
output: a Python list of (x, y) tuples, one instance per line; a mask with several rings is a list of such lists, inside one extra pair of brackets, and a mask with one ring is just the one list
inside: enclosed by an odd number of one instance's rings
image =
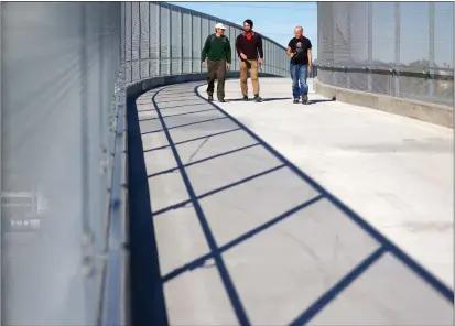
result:
[(260, 84), (129, 107), (131, 324), (452, 325), (453, 131)]

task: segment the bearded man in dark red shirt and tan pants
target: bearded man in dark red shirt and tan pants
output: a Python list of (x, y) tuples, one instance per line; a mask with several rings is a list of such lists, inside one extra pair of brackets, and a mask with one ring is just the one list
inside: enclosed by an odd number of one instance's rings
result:
[(258, 53), (259, 62), (263, 66), (262, 37), (252, 31), (252, 21), (250, 19), (243, 22), (243, 33), (237, 36), (236, 48), (240, 58), (240, 88), (243, 100), (248, 100), (247, 79), (248, 70), (250, 70), (254, 100), (260, 102), (262, 99), (259, 96)]

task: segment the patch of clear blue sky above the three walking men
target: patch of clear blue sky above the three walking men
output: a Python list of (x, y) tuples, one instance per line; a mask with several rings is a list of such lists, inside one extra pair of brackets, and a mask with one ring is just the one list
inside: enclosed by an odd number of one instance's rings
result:
[(264, 36), (288, 46), (294, 28), (302, 25), (304, 34), (317, 53), (316, 2), (170, 2), (204, 12), (242, 25), (246, 19), (254, 22), (253, 29)]

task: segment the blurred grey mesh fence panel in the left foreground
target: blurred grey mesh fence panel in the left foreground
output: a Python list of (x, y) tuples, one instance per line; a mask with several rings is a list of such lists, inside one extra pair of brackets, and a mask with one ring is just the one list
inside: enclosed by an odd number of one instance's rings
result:
[(131, 47), (120, 44), (131, 41), (126, 29), (131, 21), (121, 17), (121, 7), (124, 13), (130, 8), (120, 2), (1, 4), (1, 74), (8, 80), (2, 84), (1, 195), (31, 203), (20, 211), (1, 207), (4, 325), (97, 324), (106, 261), (98, 258), (110, 252), (104, 249), (117, 131), (112, 118), (124, 95), (120, 57), (131, 59)]

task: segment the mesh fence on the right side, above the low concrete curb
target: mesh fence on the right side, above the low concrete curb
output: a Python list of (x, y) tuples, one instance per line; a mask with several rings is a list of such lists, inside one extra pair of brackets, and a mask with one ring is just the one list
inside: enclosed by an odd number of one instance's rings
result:
[(454, 105), (453, 2), (318, 2), (317, 78)]

